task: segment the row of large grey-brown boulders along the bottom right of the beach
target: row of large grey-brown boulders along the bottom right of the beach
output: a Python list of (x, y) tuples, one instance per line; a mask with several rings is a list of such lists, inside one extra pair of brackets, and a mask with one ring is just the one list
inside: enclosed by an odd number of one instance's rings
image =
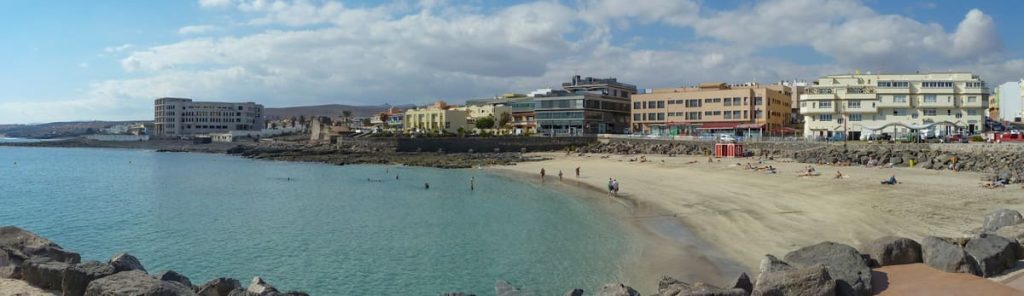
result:
[[(885, 290), (890, 283), (872, 283), (872, 269), (901, 264), (924, 263), (945, 272), (993, 278), (1012, 271), (1024, 259), (1024, 217), (1020, 212), (1000, 209), (985, 216), (974, 235), (965, 238), (926, 237), (921, 243), (899, 237), (882, 237), (862, 250), (849, 245), (822, 242), (786, 253), (781, 259), (765, 255), (756, 278), (738, 274), (726, 285), (684, 282), (664, 277), (656, 296), (768, 296), (820, 295), (866, 296)], [(571, 289), (566, 296), (586, 291)], [(442, 296), (473, 296), (463, 292)], [(495, 295), (536, 295), (505, 281), (495, 285)], [(621, 283), (602, 286), (596, 296), (645, 295)]]

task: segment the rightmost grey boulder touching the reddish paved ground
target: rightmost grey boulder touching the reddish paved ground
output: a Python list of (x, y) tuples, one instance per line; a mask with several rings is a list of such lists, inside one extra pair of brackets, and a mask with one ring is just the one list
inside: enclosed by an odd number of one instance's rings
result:
[(967, 242), (964, 250), (978, 262), (981, 276), (990, 278), (1014, 267), (1019, 247), (1017, 241), (983, 234)]

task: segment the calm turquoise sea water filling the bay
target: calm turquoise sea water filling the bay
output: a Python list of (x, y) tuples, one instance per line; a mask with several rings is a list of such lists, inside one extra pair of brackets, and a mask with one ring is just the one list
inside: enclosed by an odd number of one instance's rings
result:
[(313, 295), (593, 291), (632, 248), (599, 206), (481, 170), (130, 150), (0, 146), (0, 224), (197, 285), (262, 276)]

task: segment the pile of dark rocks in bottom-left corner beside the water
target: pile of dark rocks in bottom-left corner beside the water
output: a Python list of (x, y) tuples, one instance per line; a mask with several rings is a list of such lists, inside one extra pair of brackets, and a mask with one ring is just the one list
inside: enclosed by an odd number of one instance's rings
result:
[(132, 255), (121, 253), (106, 262), (81, 261), (78, 253), (14, 226), (0, 227), (0, 278), (22, 280), (65, 296), (300, 296), (279, 292), (259, 277), (243, 288), (220, 278), (201, 286), (173, 270), (150, 274)]

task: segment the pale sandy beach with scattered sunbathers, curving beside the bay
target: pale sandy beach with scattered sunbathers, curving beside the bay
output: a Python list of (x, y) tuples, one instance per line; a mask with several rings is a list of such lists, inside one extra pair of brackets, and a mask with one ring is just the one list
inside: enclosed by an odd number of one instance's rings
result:
[[(618, 197), (604, 197), (634, 207), (629, 218), (675, 218), (707, 243), (677, 246), (658, 254), (685, 253), (680, 254), (682, 259), (658, 258), (656, 261), (664, 263), (638, 271), (649, 273), (639, 278), (665, 273), (723, 285), (737, 268), (756, 270), (765, 254), (781, 256), (821, 241), (860, 248), (886, 235), (914, 240), (929, 235), (961, 237), (979, 227), (984, 214), (992, 209), (1024, 210), (1024, 189), (1019, 185), (982, 188), (978, 173), (815, 166), (820, 176), (799, 177), (806, 164), (767, 161), (765, 165), (779, 170), (768, 174), (744, 169), (748, 162), (757, 165), (755, 159), (708, 163), (706, 157), (648, 156), (647, 162), (641, 163), (630, 161), (638, 156), (535, 156), (551, 160), (492, 169), (539, 178), (541, 168), (545, 168), (547, 183), (552, 186), (562, 170), (564, 180), (556, 187), (604, 188), (609, 177), (615, 178), (621, 184)], [(577, 167), (581, 167), (579, 185)], [(837, 170), (846, 177), (834, 178)], [(901, 183), (880, 184), (892, 175)], [(703, 266), (707, 264), (714, 266)], [(716, 274), (699, 276), (707, 272)], [(645, 283), (634, 284), (642, 287)]]

